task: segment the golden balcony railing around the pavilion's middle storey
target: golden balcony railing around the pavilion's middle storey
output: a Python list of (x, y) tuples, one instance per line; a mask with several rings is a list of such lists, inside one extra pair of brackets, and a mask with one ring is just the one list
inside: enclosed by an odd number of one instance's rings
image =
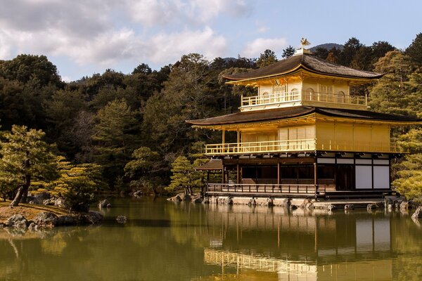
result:
[(252, 143), (217, 143), (205, 145), (205, 155), (248, 155), (271, 152), (305, 152), (312, 150), (340, 152), (404, 152), (395, 143), (365, 141), (324, 141), (309, 138), (288, 141), (259, 141)]

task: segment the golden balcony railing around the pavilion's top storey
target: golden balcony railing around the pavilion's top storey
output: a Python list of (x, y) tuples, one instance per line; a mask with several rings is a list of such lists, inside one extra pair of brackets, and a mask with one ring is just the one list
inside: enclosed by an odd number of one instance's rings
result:
[(293, 102), (318, 102), (337, 105), (355, 105), (366, 107), (367, 96), (348, 96), (343, 93), (318, 93), (309, 91), (292, 91), (287, 93), (272, 93), (262, 96), (242, 97), (242, 107), (254, 107), (257, 105), (275, 105)]

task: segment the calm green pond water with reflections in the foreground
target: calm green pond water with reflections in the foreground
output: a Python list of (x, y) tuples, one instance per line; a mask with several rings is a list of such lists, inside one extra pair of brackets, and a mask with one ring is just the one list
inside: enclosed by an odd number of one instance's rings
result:
[(112, 204), (98, 227), (0, 230), (0, 280), (422, 280), (422, 228), (399, 211)]

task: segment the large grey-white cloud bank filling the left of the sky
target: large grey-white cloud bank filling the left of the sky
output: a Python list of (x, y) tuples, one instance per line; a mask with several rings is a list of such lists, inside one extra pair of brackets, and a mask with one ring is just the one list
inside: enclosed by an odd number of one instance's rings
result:
[(174, 63), (187, 53), (212, 59), (225, 54), (228, 42), (208, 22), (221, 15), (247, 17), (251, 3), (13, 0), (0, 9), (0, 60), (32, 53), (113, 67), (122, 61)]

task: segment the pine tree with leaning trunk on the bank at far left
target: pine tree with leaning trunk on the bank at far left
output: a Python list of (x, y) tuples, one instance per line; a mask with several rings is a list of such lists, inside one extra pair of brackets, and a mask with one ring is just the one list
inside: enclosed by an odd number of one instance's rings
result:
[(0, 175), (2, 183), (17, 189), (11, 206), (26, 202), (32, 181), (46, 181), (56, 175), (56, 156), (53, 147), (43, 141), (41, 130), (28, 130), (25, 126), (13, 126), (3, 133), (0, 145)]

